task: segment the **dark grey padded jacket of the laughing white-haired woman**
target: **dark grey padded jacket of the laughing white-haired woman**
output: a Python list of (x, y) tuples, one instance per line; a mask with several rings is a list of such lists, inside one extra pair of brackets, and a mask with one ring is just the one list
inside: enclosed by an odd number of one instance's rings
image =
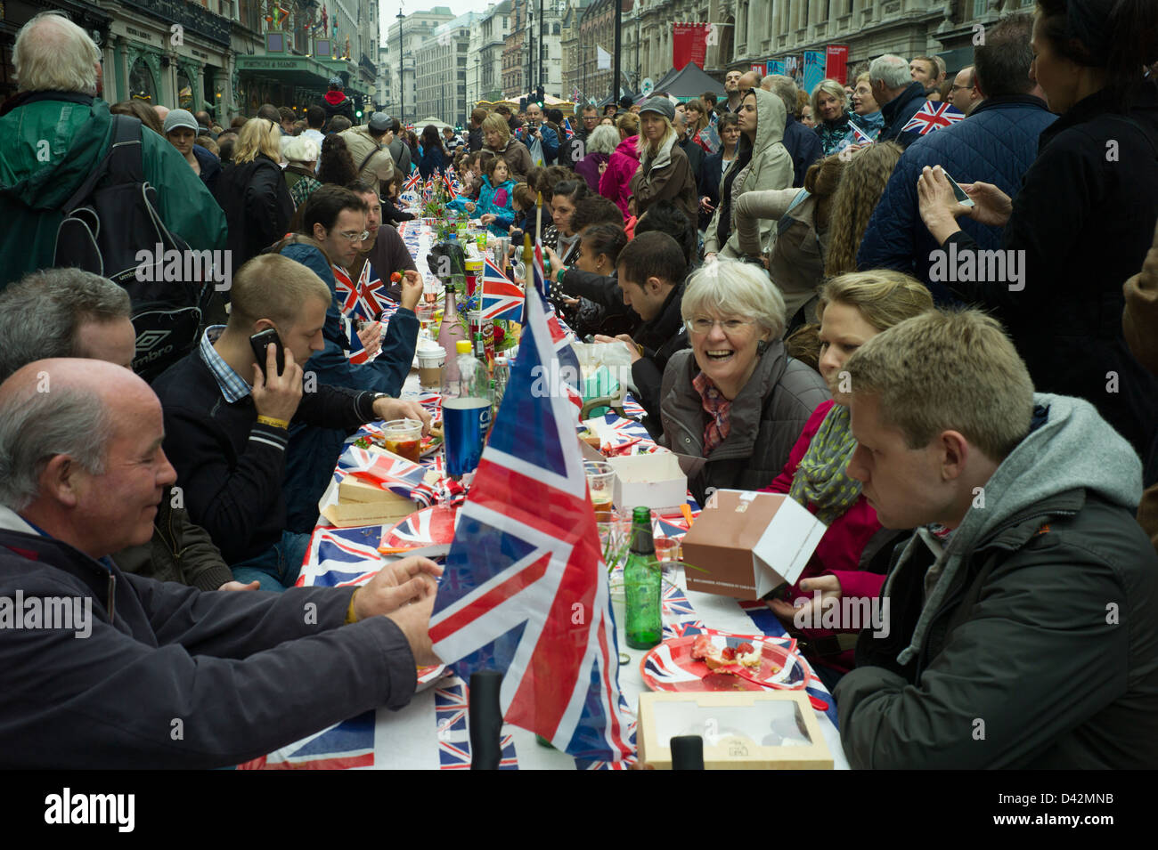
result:
[[(691, 349), (667, 361), (660, 390), (660, 441), (680, 454), (704, 457), (708, 413), (691, 384), (699, 374)], [(688, 489), (704, 503), (708, 488), (755, 490), (771, 483), (816, 406), (831, 396), (808, 365), (784, 350), (776, 340), (768, 346), (748, 383), (732, 401), (732, 427), (708, 463), (688, 480)]]

